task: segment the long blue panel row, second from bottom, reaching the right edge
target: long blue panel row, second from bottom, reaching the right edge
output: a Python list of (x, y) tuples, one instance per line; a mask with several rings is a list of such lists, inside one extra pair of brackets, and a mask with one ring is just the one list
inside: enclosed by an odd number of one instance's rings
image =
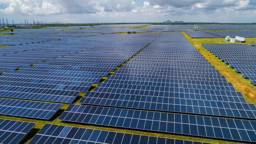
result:
[(256, 121), (71, 104), (59, 120), (256, 142)]

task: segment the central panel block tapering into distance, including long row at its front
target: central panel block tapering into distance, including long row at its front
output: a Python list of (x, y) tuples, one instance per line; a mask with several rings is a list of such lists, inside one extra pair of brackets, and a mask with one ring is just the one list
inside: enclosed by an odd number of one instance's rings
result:
[(59, 120), (256, 142), (255, 105), (181, 33), (158, 35), (80, 103)]

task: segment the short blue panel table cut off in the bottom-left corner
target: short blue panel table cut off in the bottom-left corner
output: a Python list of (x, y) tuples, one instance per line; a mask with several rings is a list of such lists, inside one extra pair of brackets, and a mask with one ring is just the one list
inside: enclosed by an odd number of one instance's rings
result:
[(34, 126), (33, 122), (0, 119), (0, 143), (19, 144)]

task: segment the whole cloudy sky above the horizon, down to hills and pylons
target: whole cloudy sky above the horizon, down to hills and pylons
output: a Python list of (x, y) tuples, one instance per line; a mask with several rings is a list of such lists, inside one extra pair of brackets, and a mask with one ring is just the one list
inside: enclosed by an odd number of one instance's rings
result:
[(2, 17), (9, 23), (250, 23), (256, 22), (256, 0), (0, 0)]

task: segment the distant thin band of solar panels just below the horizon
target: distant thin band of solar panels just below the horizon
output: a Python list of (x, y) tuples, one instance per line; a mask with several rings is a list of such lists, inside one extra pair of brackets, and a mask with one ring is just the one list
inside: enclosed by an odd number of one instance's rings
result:
[[(145, 24), (111, 24), (111, 25), (99, 25), (99, 26), (69, 26), (69, 27), (48, 27), (40, 29), (15, 29), (14, 31), (8, 31), (3, 33), (20, 33), (20, 34), (32, 34), (32, 33), (116, 33), (116, 32), (148, 32), (148, 31), (206, 31), (206, 30), (256, 30), (255, 25), (222, 25), (222, 24), (206, 24), (206, 25), (190, 25), (190, 24), (166, 24), (166, 25), (150, 25), (148, 28), (129, 28), (127, 26), (143, 26)], [(119, 27), (119, 28), (118, 28)], [(120, 28), (123, 27), (123, 28)], [(126, 28), (127, 27), (127, 28)], [(59, 31), (58, 29), (62, 29)]]

